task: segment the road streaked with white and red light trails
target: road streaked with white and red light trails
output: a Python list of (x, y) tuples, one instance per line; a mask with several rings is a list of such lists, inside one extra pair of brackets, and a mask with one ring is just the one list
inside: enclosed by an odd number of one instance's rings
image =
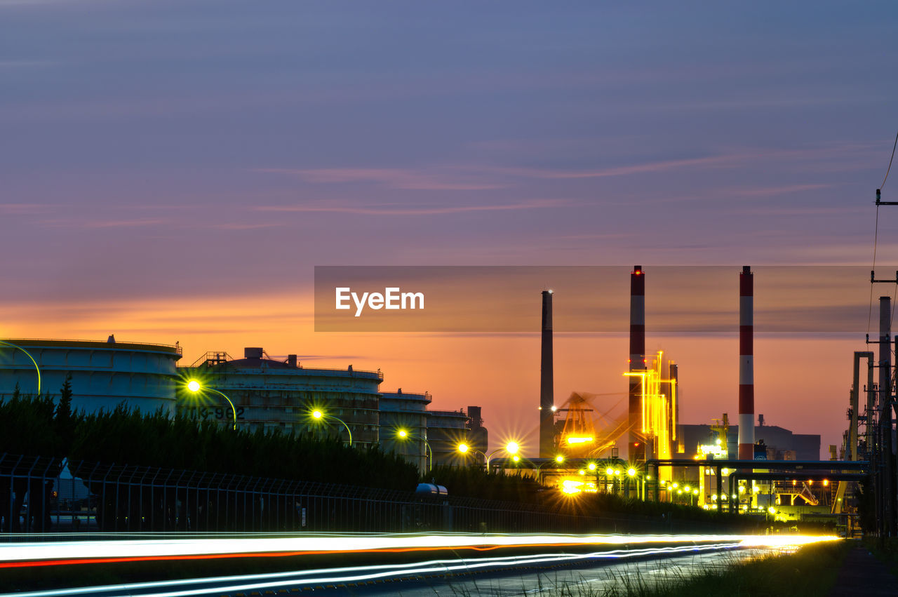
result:
[[(666, 582), (709, 566), (723, 566), (783, 545), (812, 540), (816, 538), (739, 535), (172, 536), (0, 544), (0, 571), (49, 573), (58, 567), (81, 573), (81, 580), (66, 589), (5, 593), (19, 597), (238, 597), (300, 592), (509, 595), (540, 593), (549, 587), (577, 583), (602, 589), (614, 582), (637, 579)], [(98, 568), (105, 572), (116, 559), (128, 562), (128, 566), (150, 563), (160, 570), (164, 568), (158, 566), (168, 566), (169, 560), (182, 562), (192, 557), (202, 557), (204, 562), (211, 559), (220, 564), (220, 571), (194, 578), (90, 586), (92, 567), (106, 566)], [(236, 561), (233, 558), (271, 561), (272, 557), (282, 558), (284, 569), (243, 575), (225, 572), (228, 563)], [(16, 589), (13, 584), (5, 586)]]

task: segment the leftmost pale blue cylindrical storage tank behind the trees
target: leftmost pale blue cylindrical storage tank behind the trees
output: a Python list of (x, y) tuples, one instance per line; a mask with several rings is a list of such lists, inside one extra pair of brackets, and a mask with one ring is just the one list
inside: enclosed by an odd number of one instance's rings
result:
[(4, 343), (0, 346), (0, 399), (12, 396), (16, 387), (23, 394), (37, 392), (31, 355), (40, 365), (42, 393), (59, 393), (72, 375), (73, 409), (111, 410), (126, 402), (144, 412), (158, 408), (174, 412), (176, 364), (181, 356), (177, 345), (117, 342), (114, 336), (106, 342), (9, 339)]

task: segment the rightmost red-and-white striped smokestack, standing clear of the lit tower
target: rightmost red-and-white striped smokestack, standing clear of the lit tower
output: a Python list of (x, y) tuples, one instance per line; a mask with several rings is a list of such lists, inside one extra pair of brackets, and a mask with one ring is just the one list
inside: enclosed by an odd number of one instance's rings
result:
[(754, 283), (752, 268), (739, 274), (739, 460), (754, 460)]

